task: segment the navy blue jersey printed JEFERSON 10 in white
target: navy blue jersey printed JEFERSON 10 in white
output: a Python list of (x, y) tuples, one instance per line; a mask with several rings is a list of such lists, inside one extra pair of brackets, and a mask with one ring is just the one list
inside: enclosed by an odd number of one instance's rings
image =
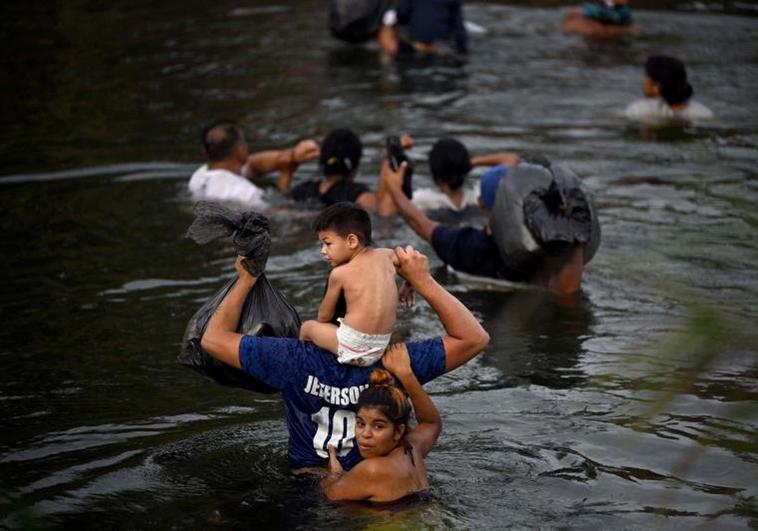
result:
[[(445, 372), (442, 339), (408, 343), (411, 368), (423, 384)], [(355, 444), (358, 395), (368, 387), (371, 367), (342, 365), (330, 352), (292, 338), (245, 336), (240, 365), (282, 392), (289, 430), (290, 466), (326, 466), (327, 448), (337, 449), (347, 470), (360, 460)]]

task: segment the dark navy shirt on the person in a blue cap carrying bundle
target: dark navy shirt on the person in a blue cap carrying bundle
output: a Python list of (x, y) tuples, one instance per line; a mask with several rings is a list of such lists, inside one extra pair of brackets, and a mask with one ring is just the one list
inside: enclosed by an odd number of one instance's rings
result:
[(484, 229), (437, 225), (432, 247), (440, 260), (462, 273), (511, 282), (529, 280), (526, 274), (505, 265), (495, 239)]

